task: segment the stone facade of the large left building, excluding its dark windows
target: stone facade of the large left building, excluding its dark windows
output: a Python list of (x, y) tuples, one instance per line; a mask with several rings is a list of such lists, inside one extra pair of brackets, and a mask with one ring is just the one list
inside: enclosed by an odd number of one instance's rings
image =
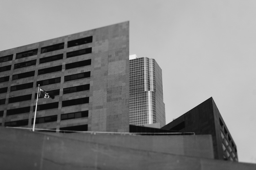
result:
[[(69, 41), (92, 36), (92, 42), (78, 44), (68, 47)], [(42, 53), (42, 47), (51, 46), (64, 42), (64, 48), (49, 50)], [(75, 57), (67, 58), (68, 52), (91, 48), (92, 52)], [(16, 59), (17, 53), (38, 49), (36, 55)], [(58, 102), (58, 108), (37, 111), (37, 118), (57, 115), (57, 121), (36, 124), (36, 128), (60, 129), (88, 124), (88, 131), (113, 131), (129, 132), (129, 22), (84, 31), (69, 36), (42, 41), (26, 46), (4, 50), (0, 52), (0, 58), (13, 54), (10, 61), (0, 62), (0, 68), (11, 65), (11, 69), (1, 72), (2, 77), (10, 76), (9, 81), (0, 82), (0, 89), (8, 87), (7, 92), (0, 94), (0, 100), (6, 99), (0, 105), (3, 117), (0, 123), (5, 126), (5, 122), (13, 122), (28, 119), (28, 125), (32, 127), (34, 118), (33, 106), (36, 104), (35, 93), (37, 93), (37, 81), (61, 77), (61, 82), (48, 84), (40, 87), (45, 91), (60, 89), (60, 94), (55, 99), (38, 99), (38, 105)], [(39, 63), (39, 59), (63, 54), (63, 59)], [(91, 64), (83, 67), (65, 69), (65, 64), (91, 59)], [(14, 65), (21, 62), (36, 60), (36, 65), (14, 69)], [(1, 61), (1, 60), (0, 60)], [(55, 71), (38, 75), (38, 70), (61, 66), (61, 71)], [(35, 75), (27, 78), (12, 80), (12, 75), (35, 71)], [(68, 75), (90, 71), (90, 77), (64, 81)], [(11, 86), (33, 82), (33, 88), (11, 91)], [(90, 84), (90, 90), (63, 94), (64, 88)], [(113, 90), (115, 89), (115, 90)], [(32, 94), (31, 100), (8, 103), (11, 97)], [(89, 103), (77, 104), (62, 107), (62, 101), (89, 97)], [(26, 113), (15, 113), (6, 115), (7, 110), (21, 107), (29, 107)], [(61, 114), (81, 112), (88, 110), (88, 117), (79, 119), (61, 120)]]

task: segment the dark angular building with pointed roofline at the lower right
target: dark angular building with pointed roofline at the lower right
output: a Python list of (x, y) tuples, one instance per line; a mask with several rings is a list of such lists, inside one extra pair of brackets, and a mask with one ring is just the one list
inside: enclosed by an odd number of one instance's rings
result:
[(238, 161), (236, 144), (212, 97), (162, 129), (211, 134), (214, 159)]

